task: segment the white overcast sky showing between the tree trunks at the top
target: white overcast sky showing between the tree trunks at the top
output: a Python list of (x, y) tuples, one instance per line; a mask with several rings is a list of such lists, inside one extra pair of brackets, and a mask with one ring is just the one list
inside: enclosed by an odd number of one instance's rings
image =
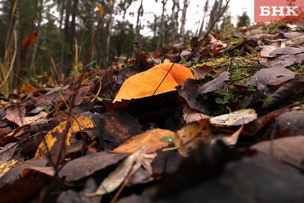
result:
[[(209, 5), (213, 5), (214, 0), (209, 0)], [(129, 11), (133, 11), (137, 13), (137, 10), (140, 6), (141, 1), (137, 0), (129, 8)], [(223, 0), (223, 3), (226, 3)], [(183, 0), (179, 0), (180, 8), (183, 7)], [(191, 30), (193, 33), (199, 28), (198, 20), (201, 20), (204, 16), (203, 6), (205, 4), (205, 0), (190, 0), (190, 3), (187, 8), (186, 15), (186, 30)], [(242, 15), (244, 11), (247, 11), (247, 14), (251, 18), (251, 21), (254, 20), (254, 0), (230, 0), (229, 2), (229, 11), (232, 16), (232, 23), (236, 25), (237, 16)], [(143, 8), (144, 8), (144, 16), (143, 16), (143, 24), (146, 25), (147, 21), (153, 21), (153, 15), (151, 13), (155, 13), (157, 15), (161, 15), (162, 4), (161, 0), (143, 0)], [(172, 0), (168, 0), (166, 4), (166, 10), (169, 15), (171, 14), (172, 8)], [(181, 13), (180, 13), (181, 15)], [(136, 24), (137, 15), (133, 18), (130, 18), (130, 21)]]

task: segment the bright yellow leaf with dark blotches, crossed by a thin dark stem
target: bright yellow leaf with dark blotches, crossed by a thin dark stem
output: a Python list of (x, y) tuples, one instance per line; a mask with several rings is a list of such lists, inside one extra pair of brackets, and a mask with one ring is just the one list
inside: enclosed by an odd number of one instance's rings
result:
[[(44, 141), (42, 141), (38, 147), (38, 150), (35, 154), (35, 159), (47, 158), (47, 152), (50, 152), (50, 156), (53, 159), (58, 158), (58, 152), (60, 151), (61, 141), (63, 139), (63, 131), (67, 125), (68, 121), (64, 121), (56, 126), (53, 130), (49, 131), (44, 137)], [(86, 116), (78, 116), (76, 120), (73, 121), (72, 127), (69, 129), (67, 133), (67, 137), (65, 139), (65, 145), (69, 146), (71, 144), (71, 137), (73, 133), (77, 133), (84, 129), (93, 128), (94, 124), (89, 117)]]

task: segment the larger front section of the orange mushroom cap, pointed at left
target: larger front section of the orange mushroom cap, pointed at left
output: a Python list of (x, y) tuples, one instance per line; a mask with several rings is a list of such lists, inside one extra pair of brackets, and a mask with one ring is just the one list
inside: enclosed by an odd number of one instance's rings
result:
[[(152, 96), (164, 76), (166, 75), (164, 70), (152, 70), (138, 73), (129, 77), (120, 88), (114, 101), (121, 101), (122, 99), (135, 99)], [(178, 86), (172, 75), (169, 73), (155, 92), (155, 94), (161, 94), (175, 90)]]

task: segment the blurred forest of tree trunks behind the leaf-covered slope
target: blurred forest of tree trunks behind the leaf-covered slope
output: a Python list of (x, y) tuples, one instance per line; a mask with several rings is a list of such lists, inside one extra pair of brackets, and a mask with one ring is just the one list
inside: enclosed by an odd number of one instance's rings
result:
[[(94, 3), (110, 6), (105, 10), (90, 56), (89, 68), (92, 69), (106, 68), (115, 57), (132, 54), (135, 45), (142, 48), (140, 51), (149, 52), (176, 43), (188, 43), (194, 36), (203, 37), (226, 4), (226, 0), (195, 1), (202, 4), (203, 10), (199, 12), (203, 12), (204, 17), (193, 19), (199, 25), (193, 33), (185, 30), (190, 0), (158, 0), (162, 7), (155, 9), (160, 9), (162, 14), (151, 13), (153, 18), (147, 24), (142, 23), (143, 0), (138, 1), (141, 5), (137, 10), (128, 11), (135, 0), (0, 0), (0, 90), (16, 87), (20, 65), (23, 67), (19, 74), (22, 80), (32, 84), (62, 82), (75, 67), (81, 69), (100, 17)], [(173, 3), (171, 10), (165, 10), (168, 2)], [(137, 20), (130, 21), (130, 16)], [(231, 28), (230, 21), (227, 10), (213, 27), (213, 32)], [(235, 26), (249, 23), (244, 12)], [(144, 30), (151, 31), (146, 34)], [(24, 43), (24, 37), (29, 33), (35, 40), (24, 53), (22, 41)]]

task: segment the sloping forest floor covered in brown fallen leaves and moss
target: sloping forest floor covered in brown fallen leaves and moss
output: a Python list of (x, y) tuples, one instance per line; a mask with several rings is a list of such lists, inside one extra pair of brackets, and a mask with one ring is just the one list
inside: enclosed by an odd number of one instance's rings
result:
[[(303, 27), (135, 53), (1, 95), (2, 203), (304, 202)], [(193, 78), (156, 92), (149, 69), (170, 61)]]

